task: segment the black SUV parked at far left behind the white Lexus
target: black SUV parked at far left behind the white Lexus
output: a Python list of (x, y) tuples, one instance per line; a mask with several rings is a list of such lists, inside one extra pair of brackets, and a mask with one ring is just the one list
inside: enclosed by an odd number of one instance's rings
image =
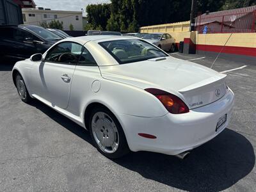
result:
[(19, 61), (44, 53), (62, 38), (47, 29), (31, 26), (0, 26), (0, 58)]

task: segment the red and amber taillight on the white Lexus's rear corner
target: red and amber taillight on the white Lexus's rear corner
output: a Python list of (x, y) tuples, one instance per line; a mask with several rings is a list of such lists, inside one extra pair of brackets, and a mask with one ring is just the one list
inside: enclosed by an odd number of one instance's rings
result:
[(186, 106), (186, 104), (181, 99), (179, 99), (179, 97), (171, 93), (164, 92), (163, 90), (158, 90), (155, 88), (148, 88), (145, 89), (145, 91), (155, 95), (170, 113), (180, 114), (189, 112), (188, 106)]

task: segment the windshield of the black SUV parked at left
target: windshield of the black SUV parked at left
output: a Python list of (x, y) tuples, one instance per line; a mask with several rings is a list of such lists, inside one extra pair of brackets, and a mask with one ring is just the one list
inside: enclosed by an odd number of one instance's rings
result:
[(61, 40), (62, 38), (47, 29), (40, 28), (38, 26), (26, 26), (29, 30), (36, 33), (36, 35), (44, 38), (45, 40)]

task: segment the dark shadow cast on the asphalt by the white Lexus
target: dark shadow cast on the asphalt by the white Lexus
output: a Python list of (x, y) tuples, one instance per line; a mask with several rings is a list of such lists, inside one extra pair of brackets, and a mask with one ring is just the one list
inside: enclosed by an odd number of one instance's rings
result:
[[(38, 100), (34, 100), (31, 106), (92, 145), (90, 134), (83, 127)], [(173, 188), (221, 191), (236, 184), (252, 171), (255, 154), (252, 144), (242, 134), (225, 129), (214, 140), (195, 148), (183, 160), (152, 152), (131, 152), (113, 162), (140, 173), (146, 179)]]

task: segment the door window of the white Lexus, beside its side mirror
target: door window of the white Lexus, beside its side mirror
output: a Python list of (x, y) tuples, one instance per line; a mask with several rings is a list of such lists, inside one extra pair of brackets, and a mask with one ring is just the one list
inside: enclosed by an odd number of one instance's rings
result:
[(47, 53), (45, 61), (61, 64), (76, 64), (82, 51), (83, 46), (80, 44), (62, 42), (52, 47)]

